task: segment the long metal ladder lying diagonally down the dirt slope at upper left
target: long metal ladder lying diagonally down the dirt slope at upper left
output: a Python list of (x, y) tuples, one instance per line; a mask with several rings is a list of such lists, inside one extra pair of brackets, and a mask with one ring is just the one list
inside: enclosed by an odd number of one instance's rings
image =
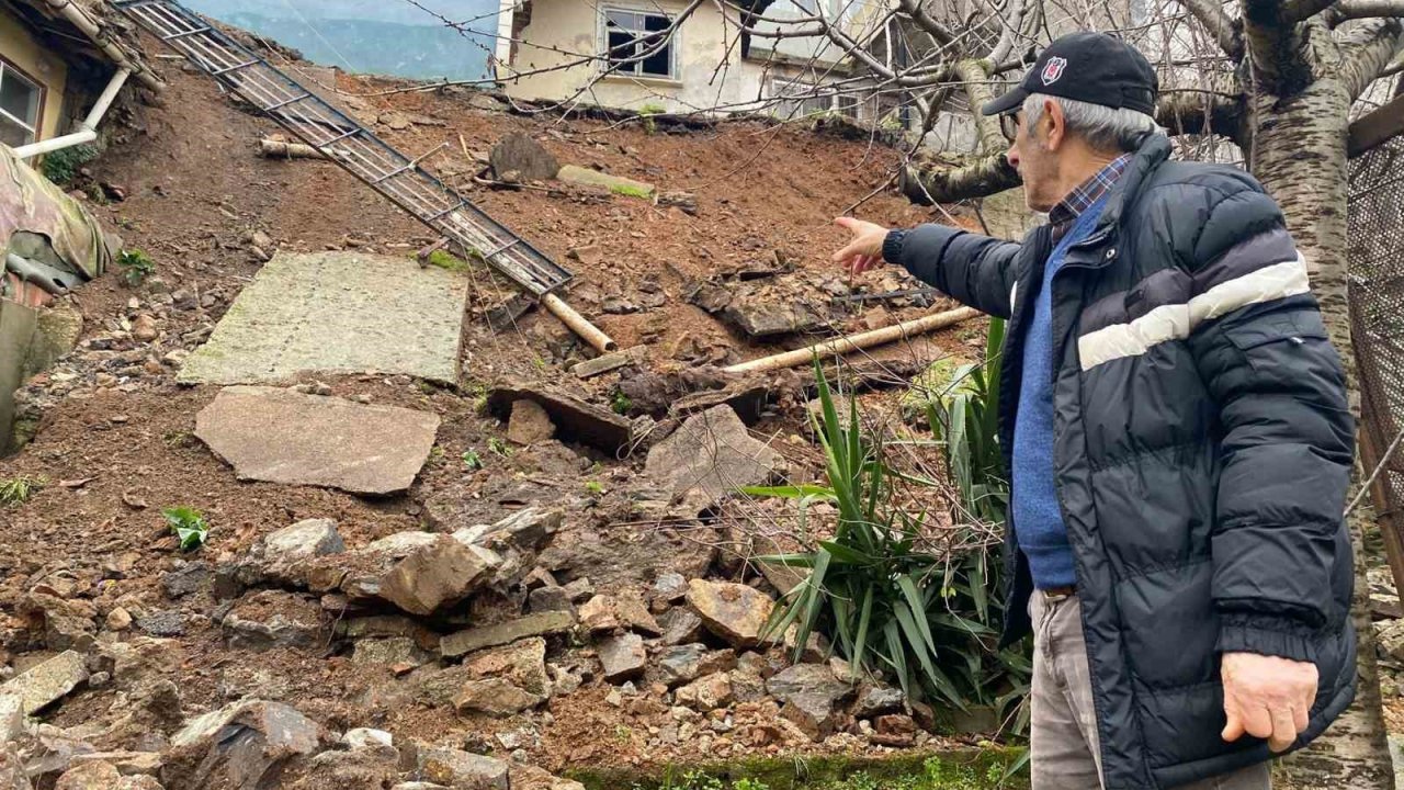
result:
[(570, 281), (570, 271), (425, 173), (417, 159), (404, 156), (180, 3), (108, 3), (390, 202), (465, 252), (476, 252), (528, 294), (543, 298)]

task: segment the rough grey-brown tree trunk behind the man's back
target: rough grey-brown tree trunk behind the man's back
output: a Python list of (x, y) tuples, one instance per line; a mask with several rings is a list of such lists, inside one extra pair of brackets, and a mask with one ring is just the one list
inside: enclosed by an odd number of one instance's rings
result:
[[(1287, 228), (1307, 260), (1311, 288), (1321, 302), (1327, 333), (1345, 365), (1351, 410), (1359, 417), (1355, 351), (1346, 302), (1346, 159), (1345, 136), (1351, 96), (1345, 83), (1323, 75), (1304, 91), (1279, 103), (1259, 96), (1250, 110), (1250, 169), (1285, 208)], [(1352, 493), (1359, 485), (1359, 474)], [(1359, 638), (1355, 704), (1316, 744), (1286, 760), (1294, 787), (1393, 790), (1384, 718), (1380, 710), (1375, 630), (1367, 610), (1362, 534), (1365, 519), (1349, 520), (1355, 548), (1352, 620)]]

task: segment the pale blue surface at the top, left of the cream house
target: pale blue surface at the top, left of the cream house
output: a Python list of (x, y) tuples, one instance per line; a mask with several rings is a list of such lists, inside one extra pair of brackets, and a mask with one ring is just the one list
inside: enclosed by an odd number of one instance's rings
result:
[[(421, 0), (423, 1), (423, 0)], [(472, 22), (483, 34), (462, 35), (403, 0), (185, 0), (220, 21), (267, 35), (313, 62), (352, 72), (411, 79), (479, 79), (496, 31), (491, 17)], [(497, 8), (497, 0), (423, 1), (459, 21)]]

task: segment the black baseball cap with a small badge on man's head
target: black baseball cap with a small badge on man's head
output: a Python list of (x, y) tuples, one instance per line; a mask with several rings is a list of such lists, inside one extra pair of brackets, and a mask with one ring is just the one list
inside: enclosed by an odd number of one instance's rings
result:
[(1074, 32), (1047, 45), (1019, 84), (980, 112), (1014, 112), (1032, 93), (1154, 115), (1160, 77), (1146, 56), (1120, 38)]

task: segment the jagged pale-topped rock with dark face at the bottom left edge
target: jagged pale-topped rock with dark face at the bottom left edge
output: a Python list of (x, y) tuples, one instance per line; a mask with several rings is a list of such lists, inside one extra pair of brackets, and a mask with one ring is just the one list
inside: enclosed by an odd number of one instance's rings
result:
[(289, 762), (316, 753), (322, 728), (296, 710), (263, 700), (233, 703), (188, 723), (171, 745), (204, 751), (194, 787), (275, 787)]

